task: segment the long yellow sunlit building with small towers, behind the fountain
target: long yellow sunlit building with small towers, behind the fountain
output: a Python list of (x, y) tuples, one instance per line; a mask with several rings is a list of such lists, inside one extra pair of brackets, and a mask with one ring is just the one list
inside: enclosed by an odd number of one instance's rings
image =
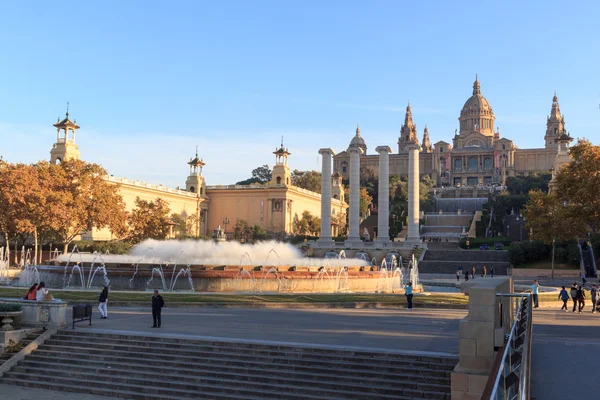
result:
[[(76, 121), (66, 117), (54, 124), (57, 129), (56, 143), (50, 151), (50, 162), (79, 159), (79, 147), (75, 136), (80, 127)], [(126, 210), (135, 208), (136, 198), (154, 201), (161, 198), (168, 202), (171, 213), (194, 221), (188, 234), (192, 236), (211, 236), (219, 226), (229, 236), (233, 236), (237, 221), (245, 220), (251, 226), (259, 225), (276, 235), (294, 233), (294, 222), (302, 218), (304, 211), (321, 217), (321, 195), (292, 184), (288, 157), (291, 153), (284, 148), (283, 142), (273, 152), (275, 165), (272, 179), (266, 184), (251, 185), (207, 185), (202, 169), (205, 163), (195, 157), (187, 163), (189, 175), (185, 180), (185, 190), (172, 189), (162, 185), (152, 185), (139, 180), (106, 176), (107, 182), (117, 185), (125, 202)], [(340, 234), (346, 220), (348, 205), (342, 200), (344, 187), (340, 178), (332, 179), (331, 234)], [(339, 221), (339, 223), (338, 223)], [(112, 240), (108, 229), (94, 229), (82, 234), (84, 240)]]

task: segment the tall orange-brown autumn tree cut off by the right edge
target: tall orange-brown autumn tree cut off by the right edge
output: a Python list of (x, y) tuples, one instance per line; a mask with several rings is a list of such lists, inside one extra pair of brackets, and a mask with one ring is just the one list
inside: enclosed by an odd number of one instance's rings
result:
[(587, 221), (594, 233), (600, 232), (600, 146), (585, 139), (569, 151), (571, 162), (556, 174), (553, 195), (566, 202), (579, 220)]

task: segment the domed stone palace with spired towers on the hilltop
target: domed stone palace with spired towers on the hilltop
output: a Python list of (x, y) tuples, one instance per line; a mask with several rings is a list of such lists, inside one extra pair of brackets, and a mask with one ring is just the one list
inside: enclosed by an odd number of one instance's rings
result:
[[(459, 127), (452, 142), (439, 141), (433, 145), (425, 127), (419, 170), (421, 176), (429, 175), (438, 186), (477, 186), (504, 184), (507, 176), (529, 175), (538, 171), (550, 171), (557, 153), (555, 139), (565, 133), (564, 117), (560, 113), (556, 94), (546, 121), (545, 146), (537, 149), (519, 149), (512, 140), (500, 137), (495, 126), (496, 116), (490, 102), (481, 94), (481, 83), (475, 77), (471, 97), (465, 101), (458, 117)], [(408, 176), (407, 145), (418, 141), (417, 125), (413, 121), (410, 104), (406, 107), (404, 123), (400, 128), (398, 152), (390, 155), (390, 175)], [(378, 173), (379, 157), (367, 154), (366, 141), (359, 135), (353, 140), (361, 141), (365, 150), (361, 156), (361, 167)], [(349, 176), (348, 152), (334, 157), (334, 171), (343, 177)]]

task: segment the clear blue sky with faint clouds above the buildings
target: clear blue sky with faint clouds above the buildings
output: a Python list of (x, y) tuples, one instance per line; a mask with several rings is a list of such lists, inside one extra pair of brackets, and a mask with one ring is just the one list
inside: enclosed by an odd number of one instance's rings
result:
[(0, 152), (48, 159), (65, 115), (84, 160), (114, 176), (209, 185), (273, 165), (320, 170), (357, 123), (368, 153), (451, 142), (475, 74), (501, 136), (544, 146), (556, 90), (566, 128), (600, 143), (597, 1), (27, 1), (0, 6)]

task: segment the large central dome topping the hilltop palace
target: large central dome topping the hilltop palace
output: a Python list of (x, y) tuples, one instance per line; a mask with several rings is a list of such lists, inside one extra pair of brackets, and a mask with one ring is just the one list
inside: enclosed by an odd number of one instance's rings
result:
[(494, 110), (485, 97), (481, 95), (481, 85), (477, 76), (473, 83), (473, 95), (465, 102), (460, 111), (460, 132), (494, 133)]

